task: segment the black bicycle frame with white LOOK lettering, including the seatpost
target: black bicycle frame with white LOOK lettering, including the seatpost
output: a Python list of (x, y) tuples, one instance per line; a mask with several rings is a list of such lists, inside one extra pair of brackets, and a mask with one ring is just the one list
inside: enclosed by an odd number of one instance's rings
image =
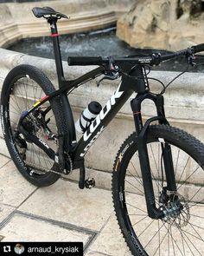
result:
[[(106, 125), (112, 120), (112, 118), (118, 113), (118, 110), (122, 108), (124, 103), (130, 98), (133, 91), (144, 93), (149, 90), (147, 86), (147, 82), (145, 82), (145, 70), (142, 66), (138, 66), (137, 69), (131, 71), (132, 76), (138, 76), (142, 79), (132, 79), (127, 75), (126, 77), (122, 75), (122, 82), (120, 83), (115, 94), (112, 95), (111, 99), (106, 103), (105, 107), (100, 111), (97, 118), (92, 121), (90, 128), (87, 129), (85, 135), (80, 139), (80, 141), (76, 144), (76, 135), (75, 135), (75, 127), (73, 122), (73, 113), (68, 102), (67, 92), (70, 92), (72, 89), (77, 88), (80, 84), (87, 82), (91, 79), (94, 79), (98, 75), (102, 75), (104, 73), (105, 68), (100, 66), (97, 69), (93, 69), (92, 71), (86, 73), (85, 75), (80, 76), (79, 78), (73, 81), (66, 81), (63, 72), (63, 66), (61, 62), (61, 49), (59, 42), (59, 34), (57, 30), (57, 18), (54, 16), (48, 19), (48, 23), (50, 24), (51, 36), (53, 38), (54, 45), (54, 59), (56, 64), (59, 89), (54, 93), (45, 96), (39, 102), (35, 102), (34, 106), (26, 111), (20, 121), (19, 121), (19, 130), (23, 135), (29, 137), (30, 141), (33, 141), (38, 147), (40, 147), (46, 154), (49, 155), (54, 161), (59, 162), (61, 155), (56, 156), (52, 148), (49, 148), (48, 145), (43, 141), (39, 140), (35, 135), (29, 135), (22, 127), (22, 120), (29, 115), (31, 111), (34, 111), (35, 108), (39, 108), (41, 104), (47, 102), (48, 100), (52, 100), (56, 96), (61, 96), (61, 104), (62, 110), (64, 112), (64, 118), (67, 123), (67, 131), (64, 131), (63, 135), (60, 135), (59, 138), (59, 154), (63, 152), (67, 152), (70, 154), (73, 161), (73, 169), (78, 167), (84, 167), (83, 158), (87, 152), (87, 150), (92, 146), (92, 143), (96, 141), (102, 131), (105, 129)], [(125, 64), (125, 69), (128, 64)], [(130, 70), (131, 67), (128, 67)], [(131, 76), (131, 77), (132, 77)], [(66, 161), (62, 156), (60, 159), (61, 169), (64, 169), (65, 164), (61, 163), (61, 161)]]

